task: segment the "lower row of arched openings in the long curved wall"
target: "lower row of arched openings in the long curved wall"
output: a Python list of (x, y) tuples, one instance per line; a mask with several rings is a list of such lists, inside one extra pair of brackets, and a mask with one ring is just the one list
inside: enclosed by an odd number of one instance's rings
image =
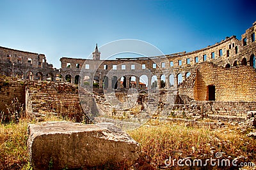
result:
[[(112, 89), (128, 89), (128, 88), (136, 88), (136, 89), (156, 89), (156, 88), (170, 88), (177, 87), (182, 81), (190, 76), (190, 72), (188, 73), (179, 73), (169, 74), (167, 77), (165, 74), (159, 75), (151, 75), (148, 76), (143, 74), (141, 76), (135, 75), (126, 75), (118, 78), (118, 76), (93, 76), (90, 77), (88, 75), (83, 76), (81, 78), (80, 75), (72, 76), (71, 74), (65, 75), (65, 81), (70, 83), (79, 84), (81, 86), (91, 86), (91, 87), (102, 87), (103, 89), (108, 89), (111, 87)], [(82, 80), (82, 81), (81, 81)]]

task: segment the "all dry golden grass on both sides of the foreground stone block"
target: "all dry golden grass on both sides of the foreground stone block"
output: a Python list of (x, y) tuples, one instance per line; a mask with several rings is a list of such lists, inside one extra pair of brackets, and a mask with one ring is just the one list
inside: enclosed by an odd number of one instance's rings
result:
[[(63, 121), (49, 116), (46, 121)], [(29, 155), (26, 146), (28, 120), (19, 124), (0, 124), (0, 169), (28, 169)], [(250, 129), (248, 129), (250, 131)], [(164, 160), (209, 159), (222, 152), (224, 159), (248, 157), (256, 162), (256, 140), (246, 137), (236, 126), (218, 130), (185, 127), (183, 124), (144, 125), (129, 134), (141, 144), (143, 155), (134, 169), (160, 169)]]

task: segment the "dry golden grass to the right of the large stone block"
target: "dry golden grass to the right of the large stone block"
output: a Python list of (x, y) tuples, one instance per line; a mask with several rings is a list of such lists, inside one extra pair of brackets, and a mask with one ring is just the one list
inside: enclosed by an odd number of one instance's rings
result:
[[(153, 168), (164, 167), (164, 160), (213, 159), (216, 152), (223, 153), (223, 159), (248, 157), (247, 162), (256, 163), (256, 140), (248, 138), (236, 127), (207, 130), (184, 125), (145, 125), (129, 132), (141, 144), (143, 159), (141, 166), (150, 162)], [(210, 168), (210, 167), (208, 167)]]

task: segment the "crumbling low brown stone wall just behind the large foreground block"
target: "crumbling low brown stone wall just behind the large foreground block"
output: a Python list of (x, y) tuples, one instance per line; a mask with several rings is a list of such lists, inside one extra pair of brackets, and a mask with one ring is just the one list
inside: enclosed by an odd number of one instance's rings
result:
[(38, 81), (26, 87), (26, 96), (29, 115), (56, 113), (77, 122), (84, 116), (77, 86), (70, 83)]

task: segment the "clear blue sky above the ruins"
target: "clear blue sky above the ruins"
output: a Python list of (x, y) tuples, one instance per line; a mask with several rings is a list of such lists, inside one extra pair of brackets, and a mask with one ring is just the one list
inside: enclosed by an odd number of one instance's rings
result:
[[(255, 0), (0, 0), (0, 46), (86, 59), (98, 43), (140, 39), (163, 53), (204, 48), (256, 21)], [(104, 54), (102, 54), (104, 55)]]

